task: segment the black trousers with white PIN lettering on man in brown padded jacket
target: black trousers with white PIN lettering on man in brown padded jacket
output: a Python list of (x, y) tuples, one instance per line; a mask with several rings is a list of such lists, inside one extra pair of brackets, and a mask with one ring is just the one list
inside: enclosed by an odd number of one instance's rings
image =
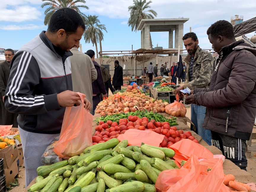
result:
[(245, 156), (246, 140), (222, 135), (220, 133), (212, 133), (212, 145), (219, 148), (226, 159), (236, 164), (240, 169), (246, 170), (247, 159)]

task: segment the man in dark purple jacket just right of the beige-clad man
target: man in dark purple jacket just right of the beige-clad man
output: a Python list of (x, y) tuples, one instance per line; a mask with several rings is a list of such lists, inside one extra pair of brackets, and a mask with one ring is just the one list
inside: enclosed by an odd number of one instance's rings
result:
[(92, 82), (92, 103), (93, 103), (92, 115), (94, 115), (97, 105), (102, 100), (100, 95), (103, 94), (103, 97), (107, 97), (108, 94), (107, 94), (107, 91), (105, 89), (105, 84), (104, 84), (103, 79), (102, 79), (102, 75), (101, 75), (101, 71), (100, 71), (100, 65), (94, 60), (95, 52), (92, 49), (89, 49), (86, 52), (86, 55), (91, 57), (92, 62), (94, 64), (94, 67), (97, 71), (97, 79)]

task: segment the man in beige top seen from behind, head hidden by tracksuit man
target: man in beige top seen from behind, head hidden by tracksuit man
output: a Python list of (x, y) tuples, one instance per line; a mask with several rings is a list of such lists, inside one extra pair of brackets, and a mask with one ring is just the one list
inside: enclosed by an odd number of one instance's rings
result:
[[(97, 79), (97, 71), (91, 58), (78, 50), (79, 44), (70, 51), (73, 91), (86, 95), (86, 98), (92, 103), (92, 82)], [(88, 82), (88, 83), (84, 83)], [(90, 110), (92, 114), (92, 109)]]

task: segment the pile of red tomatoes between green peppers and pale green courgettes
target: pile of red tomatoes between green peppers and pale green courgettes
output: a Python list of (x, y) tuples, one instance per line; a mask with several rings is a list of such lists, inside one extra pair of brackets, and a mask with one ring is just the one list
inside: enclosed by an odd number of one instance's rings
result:
[(119, 123), (107, 121), (99, 122), (95, 128), (95, 134), (92, 136), (93, 144), (103, 143), (112, 138), (117, 138), (120, 134), (124, 134), (128, 129), (151, 130), (158, 134), (164, 135), (163, 141), (159, 147), (170, 147), (183, 139), (190, 139), (196, 143), (198, 140), (192, 136), (190, 131), (183, 132), (177, 130), (176, 127), (171, 126), (169, 122), (156, 122), (155, 120), (149, 121), (148, 118), (138, 118), (137, 116), (128, 116), (128, 119), (120, 119)]

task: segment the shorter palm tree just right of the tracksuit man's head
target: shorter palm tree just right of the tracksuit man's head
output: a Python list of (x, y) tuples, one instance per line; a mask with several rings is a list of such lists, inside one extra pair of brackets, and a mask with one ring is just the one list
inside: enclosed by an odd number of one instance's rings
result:
[(86, 43), (92, 42), (92, 46), (96, 47), (96, 57), (98, 58), (97, 42), (100, 42), (100, 52), (102, 52), (101, 41), (103, 41), (103, 30), (108, 32), (105, 25), (100, 24), (99, 16), (88, 15), (85, 17), (84, 40)]

